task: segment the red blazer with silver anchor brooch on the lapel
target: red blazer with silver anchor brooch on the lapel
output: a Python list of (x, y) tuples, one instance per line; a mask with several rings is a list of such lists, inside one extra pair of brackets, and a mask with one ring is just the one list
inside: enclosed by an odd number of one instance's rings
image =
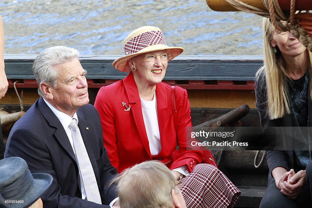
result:
[[(202, 162), (202, 151), (186, 150), (186, 127), (192, 127), (187, 91), (180, 87), (175, 89), (178, 132), (173, 121), (171, 86), (162, 82), (157, 84), (156, 100), (162, 149), (157, 156), (151, 156), (139, 92), (132, 72), (123, 80), (99, 90), (94, 106), (100, 114), (104, 146), (111, 164), (118, 172), (147, 160), (169, 161), (167, 166), (171, 170), (187, 165), (188, 171), (192, 172), (193, 167)], [(123, 102), (131, 106), (129, 111), (124, 110)], [(176, 151), (177, 144), (179, 152)], [(172, 158), (171, 154), (175, 157)]]

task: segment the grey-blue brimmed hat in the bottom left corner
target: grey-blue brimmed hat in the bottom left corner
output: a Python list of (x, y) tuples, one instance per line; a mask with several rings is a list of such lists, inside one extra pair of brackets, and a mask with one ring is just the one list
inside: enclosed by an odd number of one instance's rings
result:
[(52, 181), (52, 176), (47, 173), (30, 173), (26, 161), (20, 157), (2, 159), (0, 207), (31, 206), (46, 192)]

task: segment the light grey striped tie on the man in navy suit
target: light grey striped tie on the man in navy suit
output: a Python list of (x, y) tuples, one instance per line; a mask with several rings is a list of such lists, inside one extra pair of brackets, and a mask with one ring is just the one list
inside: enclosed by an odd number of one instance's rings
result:
[(82, 177), (83, 186), (85, 186), (85, 194), (88, 201), (102, 204), (90, 158), (85, 149), (85, 144), (83, 143), (77, 123), (76, 119), (72, 119), (68, 127), (71, 129), (71, 136), (73, 138), (79, 171)]

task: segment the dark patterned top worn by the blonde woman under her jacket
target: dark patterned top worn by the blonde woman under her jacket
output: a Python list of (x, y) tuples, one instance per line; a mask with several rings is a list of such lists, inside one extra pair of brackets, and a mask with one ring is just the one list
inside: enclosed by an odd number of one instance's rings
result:
[[(308, 112), (309, 98), (309, 76), (306, 72), (300, 79), (288, 80), (289, 101), (291, 111), (291, 122), (293, 127), (294, 140), (294, 169), (305, 170), (311, 161), (311, 135), (307, 128), (310, 126)], [(309, 151), (304, 151), (309, 150)]]

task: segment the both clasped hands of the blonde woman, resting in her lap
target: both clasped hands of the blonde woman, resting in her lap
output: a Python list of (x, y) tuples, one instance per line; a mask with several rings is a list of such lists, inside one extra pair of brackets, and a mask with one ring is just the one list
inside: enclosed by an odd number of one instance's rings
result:
[(295, 173), (294, 169), (291, 169), (280, 177), (276, 187), (288, 198), (295, 199), (301, 193), (304, 184), (305, 170)]

